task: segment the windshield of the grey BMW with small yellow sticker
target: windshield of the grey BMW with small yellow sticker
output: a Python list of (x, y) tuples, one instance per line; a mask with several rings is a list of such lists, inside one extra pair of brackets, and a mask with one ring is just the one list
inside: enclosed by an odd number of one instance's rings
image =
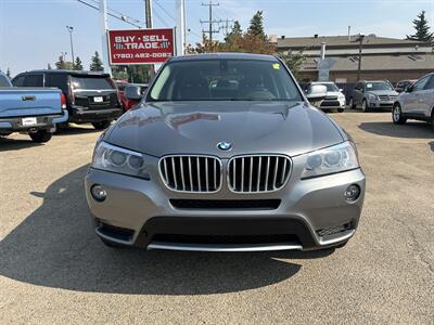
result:
[(216, 58), (168, 63), (148, 100), (302, 101), (302, 96), (277, 61)]

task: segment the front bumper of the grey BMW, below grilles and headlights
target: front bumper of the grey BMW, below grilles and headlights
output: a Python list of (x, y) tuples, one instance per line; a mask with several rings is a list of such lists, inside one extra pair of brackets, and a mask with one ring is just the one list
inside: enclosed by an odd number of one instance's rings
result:
[[(151, 181), (89, 169), (85, 180), (86, 196), (100, 237), (148, 249), (311, 250), (345, 243), (358, 225), (365, 196), (361, 169), (301, 181), (299, 170), (294, 168), (285, 187), (277, 192), (231, 193), (224, 183), (218, 193), (197, 194), (165, 187), (156, 168), (157, 158), (154, 160), (149, 161)], [(90, 194), (94, 184), (106, 191), (103, 203)], [(361, 188), (355, 202), (344, 198), (350, 184)], [(279, 199), (280, 204), (272, 209), (179, 208), (174, 206), (173, 199)], [(340, 227), (339, 232), (330, 231)]]

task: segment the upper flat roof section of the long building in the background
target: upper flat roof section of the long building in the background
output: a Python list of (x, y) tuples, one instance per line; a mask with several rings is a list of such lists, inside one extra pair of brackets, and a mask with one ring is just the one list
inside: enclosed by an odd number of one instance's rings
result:
[[(348, 36), (318, 36), (318, 37), (285, 37), (278, 38), (278, 48), (310, 48), (320, 47), (358, 47), (358, 35)], [(379, 37), (373, 34), (365, 36), (363, 47), (369, 46), (429, 46), (425, 42), (407, 39)]]

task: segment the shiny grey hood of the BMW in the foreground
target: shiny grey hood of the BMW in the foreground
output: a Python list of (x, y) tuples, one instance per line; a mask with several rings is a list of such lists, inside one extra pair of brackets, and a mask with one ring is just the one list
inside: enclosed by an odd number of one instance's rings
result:
[[(280, 153), (290, 156), (342, 142), (340, 129), (304, 102), (164, 102), (141, 104), (105, 141), (153, 156)], [(232, 144), (230, 152), (217, 143)]]

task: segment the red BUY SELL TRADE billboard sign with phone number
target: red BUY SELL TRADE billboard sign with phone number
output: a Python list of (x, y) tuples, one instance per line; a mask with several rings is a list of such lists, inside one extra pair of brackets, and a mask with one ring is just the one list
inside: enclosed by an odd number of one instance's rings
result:
[(173, 28), (108, 31), (112, 65), (164, 63), (175, 55)]

